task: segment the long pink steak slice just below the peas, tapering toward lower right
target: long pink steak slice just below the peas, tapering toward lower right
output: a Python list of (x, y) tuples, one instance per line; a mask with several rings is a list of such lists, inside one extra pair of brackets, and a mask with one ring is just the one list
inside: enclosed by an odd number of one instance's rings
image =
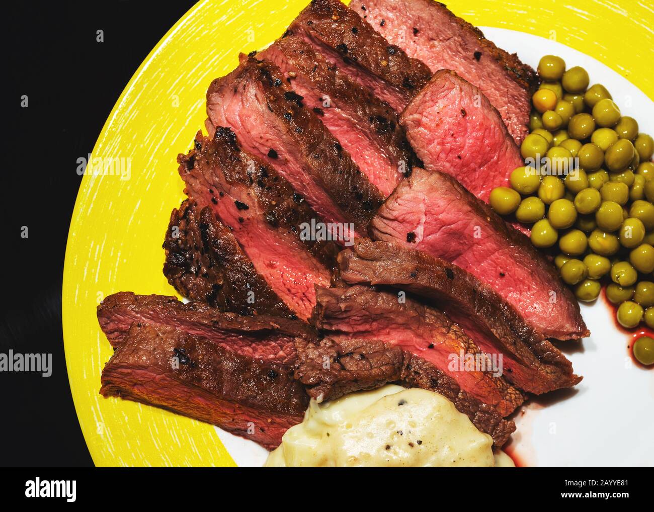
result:
[(579, 303), (551, 262), (449, 175), (413, 169), (377, 212), (371, 233), (472, 273), (542, 337), (589, 335)]

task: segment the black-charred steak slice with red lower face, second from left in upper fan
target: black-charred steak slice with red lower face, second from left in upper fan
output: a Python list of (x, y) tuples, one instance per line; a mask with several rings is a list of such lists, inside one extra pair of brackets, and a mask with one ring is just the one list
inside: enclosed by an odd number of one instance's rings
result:
[[(198, 133), (194, 148), (178, 162), (187, 194), (228, 227), (286, 307), (308, 318), (314, 284), (330, 283), (338, 247), (309, 236), (312, 222), (322, 220), (304, 197), (272, 166), (241, 150), (229, 128), (216, 129), (213, 139)], [(250, 297), (258, 304), (256, 292)], [(262, 305), (269, 302), (266, 294), (262, 299)]]

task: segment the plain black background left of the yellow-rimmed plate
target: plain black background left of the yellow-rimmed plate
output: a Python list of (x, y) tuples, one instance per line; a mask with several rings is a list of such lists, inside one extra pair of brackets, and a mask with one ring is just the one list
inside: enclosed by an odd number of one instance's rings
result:
[[(61, 280), (81, 177), (118, 96), (192, 1), (5, 5), (0, 352), (52, 352), (52, 376), (0, 373), (0, 466), (91, 466), (71, 398)], [(104, 41), (96, 41), (96, 31)], [(20, 106), (22, 95), (29, 107)], [(28, 237), (21, 237), (27, 226)]]

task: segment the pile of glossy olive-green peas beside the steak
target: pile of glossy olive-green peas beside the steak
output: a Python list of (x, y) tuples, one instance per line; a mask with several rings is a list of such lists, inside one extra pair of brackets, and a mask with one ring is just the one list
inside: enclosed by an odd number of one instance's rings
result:
[[(625, 328), (654, 328), (654, 141), (622, 116), (601, 84), (589, 87), (582, 67), (566, 69), (557, 56), (538, 64), (542, 79), (532, 97), (530, 133), (521, 145), (529, 165), (511, 173), (490, 205), (530, 224), (532, 243), (557, 248), (555, 264), (577, 299), (593, 301), (602, 280)], [(565, 173), (534, 172), (543, 157)], [(573, 160), (578, 159), (578, 160)], [(570, 172), (571, 170), (571, 172)], [(654, 364), (654, 339), (640, 338), (634, 355)]]

